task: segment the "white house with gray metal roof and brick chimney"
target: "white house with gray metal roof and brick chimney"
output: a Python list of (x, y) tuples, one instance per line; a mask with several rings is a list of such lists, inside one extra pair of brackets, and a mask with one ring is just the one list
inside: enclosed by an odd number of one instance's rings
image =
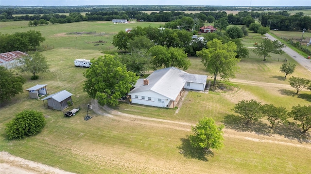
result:
[(138, 79), (129, 95), (132, 103), (174, 108), (184, 89), (204, 91), (206, 81), (206, 75), (169, 67), (156, 70), (146, 79)]

